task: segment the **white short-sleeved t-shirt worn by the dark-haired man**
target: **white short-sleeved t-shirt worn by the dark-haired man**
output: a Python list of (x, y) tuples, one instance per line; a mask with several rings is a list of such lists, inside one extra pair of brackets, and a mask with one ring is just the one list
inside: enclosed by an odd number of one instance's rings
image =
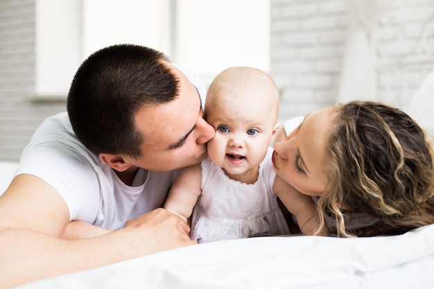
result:
[[(205, 85), (196, 75), (182, 71), (203, 101)], [(69, 209), (69, 220), (120, 229), (128, 219), (162, 206), (177, 171), (139, 168), (132, 186), (123, 184), (112, 168), (78, 141), (67, 112), (62, 112), (46, 119), (33, 134), (15, 175), (35, 175), (58, 191)]]

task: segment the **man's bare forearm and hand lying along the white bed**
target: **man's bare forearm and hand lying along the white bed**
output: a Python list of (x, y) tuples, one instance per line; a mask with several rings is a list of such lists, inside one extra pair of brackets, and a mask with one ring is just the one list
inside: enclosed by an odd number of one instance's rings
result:
[(77, 240), (0, 228), (0, 288), (196, 244), (187, 231), (185, 222), (164, 209), (130, 220), (123, 229)]

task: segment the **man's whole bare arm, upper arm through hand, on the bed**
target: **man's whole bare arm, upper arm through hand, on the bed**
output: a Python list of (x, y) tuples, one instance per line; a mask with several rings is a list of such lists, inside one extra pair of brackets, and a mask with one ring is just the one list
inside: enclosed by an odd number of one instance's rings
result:
[(164, 209), (92, 238), (60, 238), (69, 211), (33, 175), (18, 175), (0, 197), (0, 288), (192, 245), (185, 222)]

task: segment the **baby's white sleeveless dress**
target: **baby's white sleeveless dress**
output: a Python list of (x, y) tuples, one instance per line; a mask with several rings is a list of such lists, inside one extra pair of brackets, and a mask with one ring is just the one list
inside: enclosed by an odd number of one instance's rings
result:
[(271, 155), (269, 148), (254, 184), (229, 179), (209, 158), (202, 161), (202, 194), (193, 209), (193, 240), (205, 243), (290, 233), (272, 191), (276, 173)]

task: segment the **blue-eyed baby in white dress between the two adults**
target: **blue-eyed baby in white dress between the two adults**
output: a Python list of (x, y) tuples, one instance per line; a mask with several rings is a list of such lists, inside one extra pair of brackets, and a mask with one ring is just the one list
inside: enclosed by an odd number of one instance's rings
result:
[(211, 82), (205, 119), (216, 136), (207, 159), (181, 170), (164, 206), (184, 220), (193, 213), (193, 240), (289, 234), (273, 191), (278, 107), (277, 87), (259, 69), (231, 67)]

